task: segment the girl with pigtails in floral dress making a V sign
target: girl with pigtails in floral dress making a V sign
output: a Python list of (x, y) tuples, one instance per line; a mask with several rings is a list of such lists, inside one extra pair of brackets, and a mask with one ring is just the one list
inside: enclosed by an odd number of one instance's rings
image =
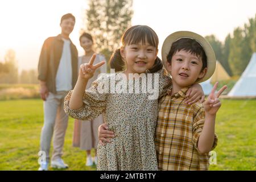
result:
[[(93, 65), (93, 56), (89, 64), (81, 65), (76, 86), (65, 98), (64, 110), (73, 118), (86, 120), (104, 113), (104, 121), (114, 131), (115, 138), (105, 146), (98, 145), (98, 170), (157, 170), (154, 133), (158, 99), (149, 100), (148, 93), (102, 93), (97, 87), (104, 85), (106, 80), (111, 82), (113, 77), (122, 77), (122, 73), (126, 77), (131, 73), (145, 73), (148, 77), (152, 71), (153, 75), (159, 76), (159, 80), (152, 81), (158, 82), (160, 97), (171, 86), (171, 78), (165, 75), (163, 65), (159, 66), (156, 56), (158, 36), (154, 30), (148, 26), (133, 26), (125, 31), (121, 40), (120, 53), (125, 60), (125, 71), (100, 77), (85, 90), (94, 71), (104, 64)], [(143, 84), (140, 78), (131, 79), (138, 79), (140, 86)], [(115, 86), (120, 84), (117, 80), (114, 83)], [(111, 86), (108, 88), (111, 91)]]

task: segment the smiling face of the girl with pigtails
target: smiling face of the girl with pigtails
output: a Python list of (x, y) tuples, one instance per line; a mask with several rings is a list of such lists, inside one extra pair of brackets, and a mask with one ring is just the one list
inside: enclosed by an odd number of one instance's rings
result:
[(158, 49), (150, 44), (130, 44), (121, 47), (121, 55), (126, 60), (127, 73), (144, 73), (153, 67)]

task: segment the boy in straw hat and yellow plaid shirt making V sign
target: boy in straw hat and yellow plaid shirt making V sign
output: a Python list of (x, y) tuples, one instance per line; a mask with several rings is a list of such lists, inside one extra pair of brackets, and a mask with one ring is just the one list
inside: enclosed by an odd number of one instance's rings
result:
[(160, 170), (207, 170), (209, 151), (217, 145), (214, 125), (221, 106), (214, 85), (204, 104), (184, 102), (189, 86), (212, 76), (216, 59), (202, 36), (188, 31), (169, 35), (163, 43), (162, 58), (172, 76), (172, 88), (159, 100), (155, 134)]

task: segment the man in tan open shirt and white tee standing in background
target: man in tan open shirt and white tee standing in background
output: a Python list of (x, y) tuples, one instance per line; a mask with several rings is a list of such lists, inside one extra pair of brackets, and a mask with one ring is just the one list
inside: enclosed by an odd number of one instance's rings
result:
[[(69, 39), (75, 26), (75, 16), (61, 17), (61, 34), (44, 41), (38, 64), (40, 95), (44, 101), (44, 126), (40, 139), (39, 171), (48, 170), (49, 151), (53, 135), (51, 167), (68, 168), (63, 162), (63, 146), (68, 126), (68, 115), (63, 109), (64, 98), (77, 81), (76, 46)], [(54, 131), (54, 132), (53, 132)], [(42, 159), (44, 157), (44, 159)]]

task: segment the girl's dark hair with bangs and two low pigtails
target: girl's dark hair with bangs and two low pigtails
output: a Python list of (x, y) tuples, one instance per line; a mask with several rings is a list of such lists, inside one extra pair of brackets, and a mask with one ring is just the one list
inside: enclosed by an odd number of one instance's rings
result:
[[(158, 36), (152, 28), (144, 25), (137, 25), (128, 28), (122, 35), (121, 42), (122, 46), (130, 44), (146, 44), (147, 42), (150, 46), (158, 48)], [(115, 52), (110, 57), (110, 68), (115, 69), (116, 72), (125, 70), (125, 61), (123, 61), (120, 49), (116, 49)], [(162, 60), (156, 57), (153, 67), (149, 70), (151, 73), (157, 72), (163, 68)]]

